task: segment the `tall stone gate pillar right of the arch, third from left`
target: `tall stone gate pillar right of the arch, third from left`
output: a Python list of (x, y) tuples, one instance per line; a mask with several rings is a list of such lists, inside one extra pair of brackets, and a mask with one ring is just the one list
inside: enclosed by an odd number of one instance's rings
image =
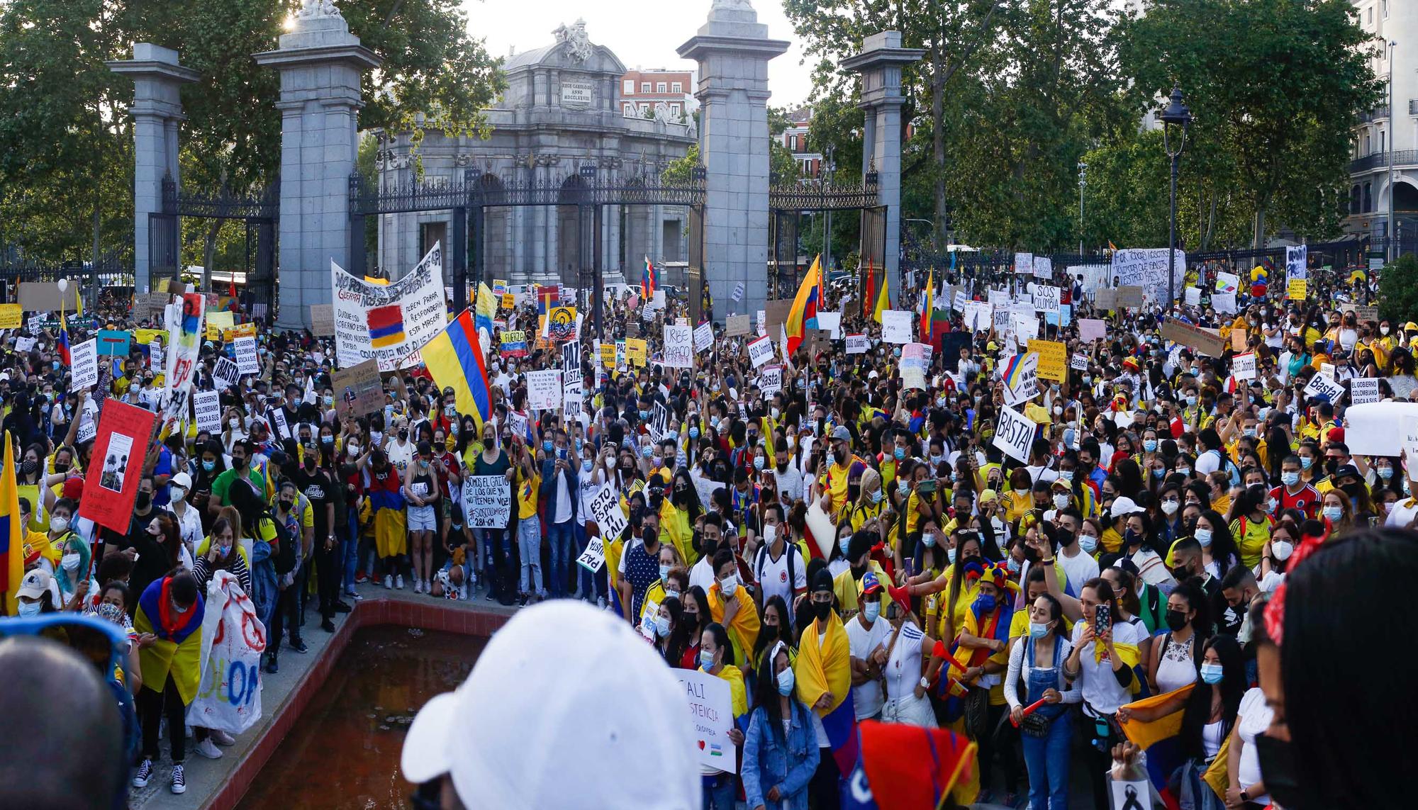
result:
[(715, 3), (679, 55), (699, 62), (699, 154), (708, 170), (703, 256), (715, 300), (743, 282), (747, 312), (763, 309), (769, 263), (769, 59), (790, 42), (747, 3)]

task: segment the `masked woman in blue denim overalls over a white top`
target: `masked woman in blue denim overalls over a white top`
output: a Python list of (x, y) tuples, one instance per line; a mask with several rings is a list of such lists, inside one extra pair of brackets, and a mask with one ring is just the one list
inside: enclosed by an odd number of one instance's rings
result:
[[(1068, 704), (1079, 702), (1083, 695), (1064, 677), (1064, 661), (1072, 653), (1072, 644), (1059, 600), (1041, 593), (1029, 603), (1028, 619), (1028, 634), (1010, 649), (1004, 700), (1010, 705), (1011, 721), (1022, 731), (1029, 804), (1037, 810), (1066, 810), (1073, 731)], [(1044, 704), (1025, 717), (1025, 707), (1038, 701)]]

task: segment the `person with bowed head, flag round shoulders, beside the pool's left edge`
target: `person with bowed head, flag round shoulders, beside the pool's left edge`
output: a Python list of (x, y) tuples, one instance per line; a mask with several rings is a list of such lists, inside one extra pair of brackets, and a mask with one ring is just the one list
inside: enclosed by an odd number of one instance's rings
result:
[(133, 773), (133, 787), (146, 787), (157, 758), (157, 726), (167, 715), (172, 741), (172, 792), (186, 793), (183, 759), (187, 756), (187, 705), (197, 697), (201, 660), (201, 619), (206, 606), (197, 579), (190, 572), (163, 576), (143, 589), (133, 616), (133, 630), (157, 639), (138, 651), (143, 688), (138, 692), (138, 717), (143, 728), (143, 760)]

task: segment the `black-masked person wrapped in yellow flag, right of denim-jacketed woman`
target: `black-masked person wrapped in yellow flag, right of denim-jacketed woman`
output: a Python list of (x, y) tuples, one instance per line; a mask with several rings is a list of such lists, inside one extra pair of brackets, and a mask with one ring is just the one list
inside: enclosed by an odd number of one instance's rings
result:
[(856, 714), (848, 700), (852, 690), (852, 657), (842, 620), (832, 610), (832, 575), (820, 569), (813, 576), (808, 605), (813, 623), (798, 639), (798, 657), (793, 664), (797, 695), (813, 709), (817, 729), (818, 765), (808, 783), (814, 807), (839, 804), (837, 783), (844, 773), (832, 752), (842, 748), (855, 732)]

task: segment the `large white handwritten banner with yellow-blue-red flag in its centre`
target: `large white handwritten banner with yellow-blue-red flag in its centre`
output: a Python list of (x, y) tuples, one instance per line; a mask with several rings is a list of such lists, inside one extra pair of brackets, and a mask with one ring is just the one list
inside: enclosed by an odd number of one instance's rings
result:
[(377, 360), (380, 371), (394, 371), (400, 360), (448, 326), (438, 244), (397, 282), (372, 285), (332, 261), (330, 283), (340, 368)]

